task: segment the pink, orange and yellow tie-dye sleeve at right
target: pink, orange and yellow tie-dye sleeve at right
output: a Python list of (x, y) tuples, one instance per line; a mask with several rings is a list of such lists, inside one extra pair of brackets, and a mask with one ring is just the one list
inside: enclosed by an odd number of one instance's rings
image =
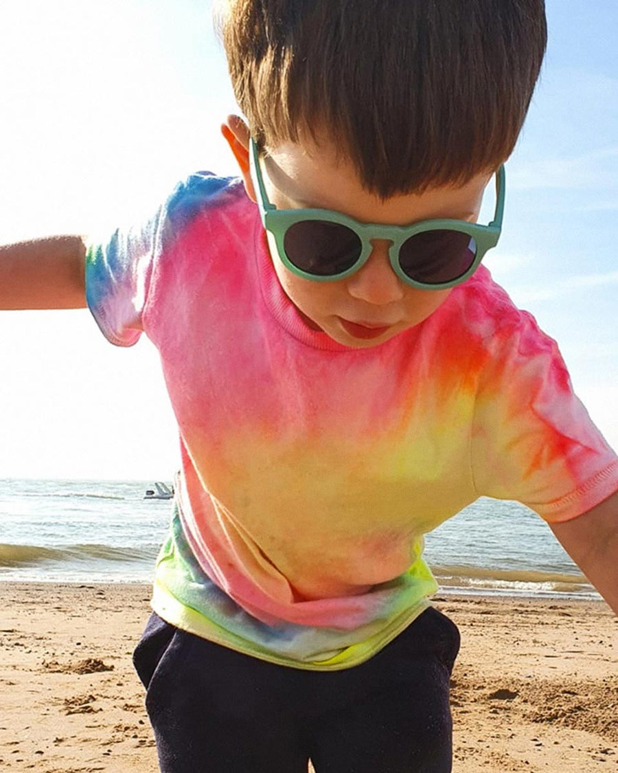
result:
[(520, 312), (487, 346), (470, 449), (478, 495), (559, 523), (616, 492), (618, 457), (573, 393), (555, 341)]

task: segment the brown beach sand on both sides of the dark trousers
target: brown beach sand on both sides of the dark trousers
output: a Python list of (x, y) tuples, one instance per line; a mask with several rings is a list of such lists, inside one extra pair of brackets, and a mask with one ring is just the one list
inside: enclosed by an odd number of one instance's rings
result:
[[(131, 666), (149, 592), (0, 583), (0, 768), (157, 773)], [(440, 596), (436, 605), (462, 633), (454, 773), (618, 770), (618, 619), (606, 604)]]

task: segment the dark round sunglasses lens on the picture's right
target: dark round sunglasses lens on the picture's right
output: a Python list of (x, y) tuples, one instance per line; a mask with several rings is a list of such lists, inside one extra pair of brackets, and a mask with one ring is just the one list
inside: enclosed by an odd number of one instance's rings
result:
[(477, 257), (477, 243), (462, 231), (416, 233), (399, 250), (399, 265), (410, 279), (441, 284), (460, 278)]

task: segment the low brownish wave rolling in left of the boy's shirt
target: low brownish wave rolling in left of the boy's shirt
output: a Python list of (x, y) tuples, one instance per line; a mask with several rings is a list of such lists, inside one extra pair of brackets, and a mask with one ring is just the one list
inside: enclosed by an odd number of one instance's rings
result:
[(88, 561), (134, 563), (154, 560), (157, 547), (111, 547), (110, 545), (11, 545), (0, 543), (0, 568), (32, 567), (49, 562), (72, 563)]

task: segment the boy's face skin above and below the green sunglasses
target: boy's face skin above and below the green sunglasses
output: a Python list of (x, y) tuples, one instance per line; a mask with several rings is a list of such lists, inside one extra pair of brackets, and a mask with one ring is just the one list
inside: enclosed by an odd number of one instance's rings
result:
[[(231, 131), (238, 138), (234, 128)], [(271, 150), (261, 163), (268, 197), (278, 209), (334, 209), (361, 222), (388, 225), (433, 218), (475, 222), (491, 176), (477, 175), (460, 188), (440, 187), (382, 201), (363, 188), (351, 163), (337, 158), (335, 148), (324, 142), (319, 148), (312, 141), (288, 142)], [(247, 192), (255, 200), (243, 163), (241, 168)], [(450, 294), (450, 290), (419, 290), (404, 284), (392, 270), (385, 240), (372, 242), (371, 256), (355, 274), (317, 282), (289, 271), (277, 257), (272, 234), (267, 236), (277, 277), (304, 322), (344, 346), (364, 349), (388, 341), (423, 322)]]

